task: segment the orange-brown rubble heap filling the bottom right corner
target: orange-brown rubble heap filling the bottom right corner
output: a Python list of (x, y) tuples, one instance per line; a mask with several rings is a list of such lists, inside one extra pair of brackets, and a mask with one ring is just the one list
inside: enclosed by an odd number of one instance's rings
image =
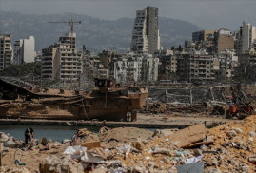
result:
[(216, 151), (214, 155), (205, 154), (207, 166), (226, 172), (256, 171), (255, 115), (247, 117), (244, 123), (228, 123), (207, 130), (207, 134), (214, 135), (214, 143), (207, 150)]

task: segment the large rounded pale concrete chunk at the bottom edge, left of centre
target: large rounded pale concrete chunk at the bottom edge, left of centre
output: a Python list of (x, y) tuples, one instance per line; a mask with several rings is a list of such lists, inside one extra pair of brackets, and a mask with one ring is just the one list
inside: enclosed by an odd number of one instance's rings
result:
[(84, 172), (81, 163), (76, 163), (68, 158), (58, 158), (57, 156), (50, 155), (41, 163), (39, 163), (40, 173), (77, 173)]

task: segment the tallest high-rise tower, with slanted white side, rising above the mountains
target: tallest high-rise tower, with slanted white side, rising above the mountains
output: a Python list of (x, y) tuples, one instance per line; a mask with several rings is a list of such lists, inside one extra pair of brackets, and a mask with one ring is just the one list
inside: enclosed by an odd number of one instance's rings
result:
[(137, 10), (132, 31), (130, 50), (136, 53), (153, 54), (159, 51), (158, 8)]

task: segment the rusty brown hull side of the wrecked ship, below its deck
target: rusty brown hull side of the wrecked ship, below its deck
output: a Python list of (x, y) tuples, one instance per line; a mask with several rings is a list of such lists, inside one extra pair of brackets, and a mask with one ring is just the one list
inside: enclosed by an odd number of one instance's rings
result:
[(147, 96), (148, 93), (132, 98), (108, 98), (107, 103), (105, 98), (63, 103), (60, 100), (38, 104), (7, 102), (0, 105), (0, 118), (128, 121), (128, 114), (136, 114), (136, 109), (145, 105)]

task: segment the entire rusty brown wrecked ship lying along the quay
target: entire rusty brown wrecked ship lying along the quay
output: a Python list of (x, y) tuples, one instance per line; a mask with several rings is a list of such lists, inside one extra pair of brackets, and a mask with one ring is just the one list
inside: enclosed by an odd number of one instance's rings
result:
[(103, 79), (95, 79), (90, 93), (21, 87), (3, 79), (0, 86), (1, 118), (136, 121), (136, 110), (148, 97), (146, 87), (121, 87)]

